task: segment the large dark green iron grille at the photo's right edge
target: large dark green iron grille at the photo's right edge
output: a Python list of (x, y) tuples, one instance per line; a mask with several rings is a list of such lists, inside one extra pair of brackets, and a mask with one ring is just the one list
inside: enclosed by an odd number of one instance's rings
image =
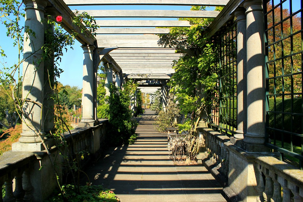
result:
[(303, 161), (303, 0), (264, 0), (266, 62), (265, 144), (280, 160)]

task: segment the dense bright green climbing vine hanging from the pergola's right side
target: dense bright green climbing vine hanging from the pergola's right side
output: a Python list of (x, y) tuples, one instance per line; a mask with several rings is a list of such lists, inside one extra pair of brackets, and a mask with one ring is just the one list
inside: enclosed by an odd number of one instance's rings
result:
[[(215, 10), (221, 11), (221, 7)], [(205, 10), (204, 6), (193, 6), (191, 10)], [(183, 115), (182, 123), (178, 124), (179, 132), (188, 134), (186, 139), (194, 140), (196, 128), (202, 115), (207, 114), (210, 103), (210, 95), (215, 94), (217, 79), (215, 66), (215, 46), (211, 39), (204, 36), (203, 31), (210, 25), (212, 19), (204, 18), (180, 18), (191, 23), (190, 28), (170, 28), (168, 35), (160, 35), (159, 45), (177, 47), (185, 51), (173, 68), (175, 74), (171, 77), (168, 85), (170, 93), (175, 95), (180, 114)], [(204, 140), (201, 140), (203, 144)], [(198, 147), (196, 148), (196, 152)], [(192, 148), (188, 148), (192, 151)], [(192, 153), (192, 152), (191, 152)], [(187, 155), (190, 160), (195, 154)]]

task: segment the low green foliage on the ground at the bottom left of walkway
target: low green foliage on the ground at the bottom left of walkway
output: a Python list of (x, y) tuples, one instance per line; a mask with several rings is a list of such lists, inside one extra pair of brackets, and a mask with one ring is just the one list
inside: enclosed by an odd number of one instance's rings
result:
[(65, 185), (62, 186), (64, 192), (64, 199), (62, 198), (61, 192), (54, 191), (53, 196), (45, 200), (45, 202), (63, 202), (63, 201), (74, 201), (74, 202), (117, 202), (120, 199), (116, 194), (109, 189), (102, 187), (101, 185), (90, 185), (90, 186), (80, 186), (79, 192), (75, 192), (74, 185)]

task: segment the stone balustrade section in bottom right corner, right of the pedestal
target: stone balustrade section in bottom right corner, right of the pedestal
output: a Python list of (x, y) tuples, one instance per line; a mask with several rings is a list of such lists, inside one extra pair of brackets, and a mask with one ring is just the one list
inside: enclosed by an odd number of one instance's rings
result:
[(255, 157), (257, 201), (303, 201), (303, 171), (271, 156)]

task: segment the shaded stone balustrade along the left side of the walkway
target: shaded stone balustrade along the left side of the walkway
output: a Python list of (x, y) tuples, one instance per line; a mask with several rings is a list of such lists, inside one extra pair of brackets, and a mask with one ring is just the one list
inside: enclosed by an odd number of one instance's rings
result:
[[(71, 131), (71, 134), (65, 135), (67, 144), (66, 149), (61, 148), (63, 153), (67, 152), (70, 159), (81, 157), (84, 151), (84, 159), (81, 160), (81, 167), (85, 166), (91, 159), (97, 158), (102, 150), (102, 144), (105, 139), (105, 127), (107, 119), (99, 120), (99, 124), (92, 127), (78, 127)], [(50, 149), (51, 158), (56, 162), (62, 161), (58, 157), (58, 148)], [(88, 155), (88, 153), (89, 155)], [(48, 162), (48, 163), (47, 163)], [(60, 165), (61, 162), (58, 162)], [(40, 169), (41, 168), (41, 171)], [(56, 166), (59, 175), (66, 177), (67, 169), (62, 166)], [(45, 180), (38, 179), (37, 173), (45, 173)], [(2, 186), (5, 185), (5, 197), (0, 194), (0, 202), (11, 201), (44, 201), (55, 187), (54, 180), (48, 180), (47, 177), (52, 176), (52, 166), (49, 163), (46, 151), (39, 152), (20, 152), (8, 151), (0, 157), (0, 193)], [(61, 177), (61, 176), (60, 176)], [(41, 181), (41, 182), (40, 182)], [(45, 190), (47, 186), (48, 190)], [(43, 196), (45, 195), (45, 196)]]

